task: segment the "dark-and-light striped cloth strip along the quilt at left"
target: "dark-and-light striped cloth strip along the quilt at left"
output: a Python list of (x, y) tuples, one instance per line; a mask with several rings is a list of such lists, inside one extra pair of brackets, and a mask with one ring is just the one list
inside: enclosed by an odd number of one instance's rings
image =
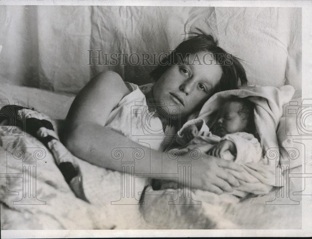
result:
[(21, 127), (41, 141), (53, 155), (56, 165), (76, 197), (88, 202), (83, 191), (79, 165), (59, 140), (48, 116), (23, 106), (5, 105), (0, 109), (0, 124)]

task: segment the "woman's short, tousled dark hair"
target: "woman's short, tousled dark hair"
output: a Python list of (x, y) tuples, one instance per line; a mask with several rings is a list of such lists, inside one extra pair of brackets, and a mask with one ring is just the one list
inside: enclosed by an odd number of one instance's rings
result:
[(199, 28), (199, 32), (189, 32), (194, 36), (189, 37), (178, 45), (168, 57), (161, 60), (160, 64), (150, 73), (155, 81), (165, 73), (172, 65), (181, 62), (187, 55), (195, 54), (201, 51), (207, 51), (213, 54), (218, 65), (222, 67), (222, 76), (219, 84), (214, 89), (214, 93), (224, 90), (238, 89), (239, 80), (241, 85), (247, 84), (247, 77), (244, 67), (239, 62), (239, 58), (227, 53), (221, 47), (217, 46), (217, 40), (213, 36), (205, 33)]

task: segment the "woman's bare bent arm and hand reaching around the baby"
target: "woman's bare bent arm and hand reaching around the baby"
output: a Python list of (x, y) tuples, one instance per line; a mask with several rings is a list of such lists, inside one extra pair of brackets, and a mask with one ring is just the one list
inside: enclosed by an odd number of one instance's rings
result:
[[(64, 144), (77, 157), (118, 171), (120, 161), (112, 159), (111, 151), (116, 147), (141, 148), (145, 151), (145, 158), (136, 161), (136, 172), (153, 171), (161, 159), (168, 172), (176, 172), (176, 162), (170, 160), (167, 154), (139, 145), (104, 127), (112, 109), (128, 93), (129, 89), (115, 72), (101, 73), (90, 80), (76, 96), (68, 112)], [(133, 160), (132, 155), (124, 154), (124, 160)], [(202, 159), (193, 162), (193, 187), (217, 193), (232, 191), (230, 184), (237, 185), (238, 181), (219, 166), (240, 170), (239, 165), (232, 162), (203, 155)]]

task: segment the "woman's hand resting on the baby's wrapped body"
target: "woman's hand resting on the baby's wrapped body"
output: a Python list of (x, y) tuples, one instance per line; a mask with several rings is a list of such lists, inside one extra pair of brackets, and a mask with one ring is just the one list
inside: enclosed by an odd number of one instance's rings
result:
[(224, 168), (242, 172), (242, 166), (234, 162), (209, 155), (192, 161), (192, 187), (216, 194), (232, 192), (231, 185), (238, 187), (239, 181)]

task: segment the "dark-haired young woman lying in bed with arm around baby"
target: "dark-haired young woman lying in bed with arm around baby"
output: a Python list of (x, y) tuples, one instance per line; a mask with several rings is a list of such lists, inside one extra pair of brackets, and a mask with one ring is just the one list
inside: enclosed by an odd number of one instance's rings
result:
[[(144, 147), (131, 139), (131, 127), (125, 127), (123, 120), (128, 124), (132, 120), (139, 120), (133, 119), (130, 109), (127, 109), (135, 101), (142, 100), (148, 107), (153, 105), (154, 123), (165, 126), (166, 118), (157, 113), (162, 107), (155, 108), (155, 99), (162, 99), (166, 106), (170, 102), (178, 105), (178, 117), (185, 122), (213, 93), (237, 89), (239, 81), (242, 85), (247, 83), (245, 70), (238, 59), (218, 47), (212, 36), (199, 31), (178, 45), (152, 71), (155, 84), (146, 95), (142, 95), (136, 85), (125, 84), (112, 71), (102, 72), (91, 79), (76, 96), (66, 117), (64, 144), (68, 149), (90, 163), (120, 171), (120, 162), (112, 159), (112, 150), (116, 146), (140, 147), (146, 153), (143, 160), (136, 161), (136, 172), (156, 172), (161, 160), (167, 173), (176, 172), (176, 162), (170, 160), (161, 147)], [(176, 133), (179, 130), (175, 124), (177, 121), (170, 122), (169, 130), (165, 132)], [(124, 160), (132, 160), (132, 155), (125, 154)], [(239, 182), (224, 168), (242, 170), (233, 162), (202, 154), (200, 160), (193, 160), (193, 188), (217, 194), (232, 192), (231, 185), (239, 186)]]

